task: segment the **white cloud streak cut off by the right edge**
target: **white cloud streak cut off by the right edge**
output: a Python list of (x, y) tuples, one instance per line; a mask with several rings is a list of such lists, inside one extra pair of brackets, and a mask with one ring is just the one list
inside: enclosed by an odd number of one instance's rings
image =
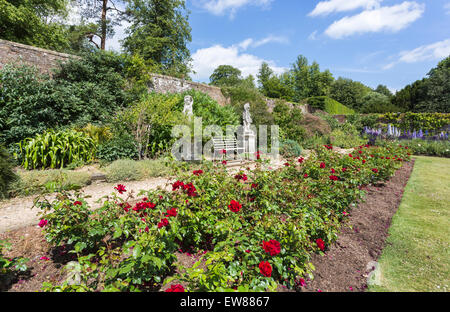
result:
[(417, 63), (423, 61), (441, 60), (450, 55), (450, 39), (420, 46), (414, 50), (402, 51), (398, 60), (383, 67), (384, 70), (391, 69), (398, 63)]

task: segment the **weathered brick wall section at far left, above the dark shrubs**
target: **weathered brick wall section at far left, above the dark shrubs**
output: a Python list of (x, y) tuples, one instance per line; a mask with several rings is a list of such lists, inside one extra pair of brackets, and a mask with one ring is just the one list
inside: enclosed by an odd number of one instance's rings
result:
[(75, 55), (59, 53), (51, 50), (0, 39), (0, 68), (8, 63), (25, 63), (34, 65), (41, 73), (51, 74), (51, 69)]

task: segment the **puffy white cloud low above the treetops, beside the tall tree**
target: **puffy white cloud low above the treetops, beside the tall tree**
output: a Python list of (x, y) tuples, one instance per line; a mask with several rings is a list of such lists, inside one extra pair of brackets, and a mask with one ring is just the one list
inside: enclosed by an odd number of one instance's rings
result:
[(208, 81), (209, 76), (220, 65), (231, 65), (241, 70), (242, 76), (253, 75), (256, 77), (261, 64), (267, 62), (272, 70), (276, 74), (281, 74), (287, 69), (276, 66), (275, 62), (270, 60), (264, 60), (258, 56), (244, 53), (243, 51), (248, 48), (252, 42), (249, 43), (247, 39), (239, 44), (232, 45), (230, 47), (224, 47), (222, 45), (214, 45), (209, 48), (199, 49), (192, 55), (192, 65), (196, 72), (193, 75), (194, 80)]

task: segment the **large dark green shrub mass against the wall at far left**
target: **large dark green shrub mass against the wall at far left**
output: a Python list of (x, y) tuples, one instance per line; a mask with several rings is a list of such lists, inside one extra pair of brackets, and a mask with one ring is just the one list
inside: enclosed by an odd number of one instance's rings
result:
[(62, 65), (53, 80), (34, 67), (4, 66), (0, 70), (0, 143), (10, 147), (48, 128), (108, 121), (139, 97), (135, 88), (125, 90), (124, 77), (139, 73), (126, 71), (126, 64), (113, 52), (88, 53)]

